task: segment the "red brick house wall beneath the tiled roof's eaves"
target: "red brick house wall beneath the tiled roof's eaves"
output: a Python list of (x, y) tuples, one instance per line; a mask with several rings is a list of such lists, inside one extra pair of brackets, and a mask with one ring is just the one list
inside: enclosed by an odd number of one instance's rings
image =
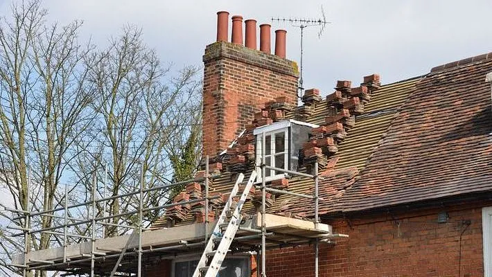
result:
[[(448, 223), (437, 223), (439, 211), (446, 210)], [(466, 230), (462, 220), (471, 220)], [(335, 232), (350, 238), (337, 239), (335, 246), (322, 244), (319, 276), (460, 276), (463, 231), (461, 276), (484, 275), (480, 207), (455, 206), (331, 224)], [(268, 252), (267, 276), (314, 276), (313, 247)]]

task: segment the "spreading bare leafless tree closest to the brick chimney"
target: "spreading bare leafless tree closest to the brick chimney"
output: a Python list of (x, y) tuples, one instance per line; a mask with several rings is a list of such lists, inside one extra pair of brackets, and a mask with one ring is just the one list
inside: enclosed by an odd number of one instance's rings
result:
[[(170, 66), (161, 66), (155, 51), (143, 44), (141, 30), (134, 27), (124, 28), (121, 36), (91, 59), (96, 64), (89, 75), (95, 87), (93, 107), (98, 122), (86, 134), (85, 143), (80, 144), (80, 150), (88, 150), (88, 154), (78, 157), (74, 171), (79, 172), (80, 179), (86, 177), (87, 191), (91, 191), (89, 173), (99, 169), (101, 175), (101, 169), (107, 168), (107, 196), (136, 189), (142, 171), (145, 188), (168, 181), (173, 175), (170, 153), (179, 152), (177, 148), (183, 143), (178, 142), (196, 137), (191, 127), (197, 127), (200, 114), (197, 69), (186, 67), (177, 76), (168, 77), (172, 75)], [(96, 161), (93, 168), (87, 168), (89, 161)], [(145, 205), (157, 205), (166, 195), (165, 191), (148, 194)], [(114, 199), (109, 202), (107, 213), (125, 213), (136, 208), (137, 203)], [(148, 213), (147, 218), (152, 221), (157, 215)], [(112, 223), (134, 220), (114, 217)], [(117, 235), (118, 231), (111, 226), (106, 234)]]

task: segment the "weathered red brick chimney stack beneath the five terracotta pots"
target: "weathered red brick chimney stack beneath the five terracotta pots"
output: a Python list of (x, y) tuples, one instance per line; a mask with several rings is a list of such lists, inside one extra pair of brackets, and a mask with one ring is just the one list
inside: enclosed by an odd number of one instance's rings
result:
[(204, 155), (225, 150), (266, 102), (297, 105), (295, 62), (227, 42), (207, 46), (203, 61)]

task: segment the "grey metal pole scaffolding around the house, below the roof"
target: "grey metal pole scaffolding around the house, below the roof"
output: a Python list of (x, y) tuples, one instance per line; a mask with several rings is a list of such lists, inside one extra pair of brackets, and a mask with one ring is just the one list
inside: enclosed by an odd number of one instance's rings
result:
[[(265, 136), (263, 136), (263, 143), (265, 143)], [(263, 144), (264, 145), (264, 144)], [(261, 190), (261, 211), (258, 213), (258, 217), (261, 217), (261, 226), (256, 226), (255, 228), (245, 228), (240, 227), (240, 229), (246, 233), (246, 235), (238, 236), (234, 239), (236, 242), (252, 242), (256, 245), (256, 257), (261, 257), (261, 270), (259, 271), (262, 277), (266, 276), (266, 251), (267, 249), (274, 249), (278, 247), (282, 247), (283, 245), (299, 245), (299, 244), (313, 244), (314, 252), (315, 252), (315, 276), (317, 277), (318, 268), (319, 268), (319, 242), (332, 242), (331, 238), (340, 236), (337, 234), (333, 234), (331, 229), (321, 230), (319, 229), (319, 174), (318, 174), (318, 164), (315, 162), (313, 165), (313, 175), (303, 173), (303, 172), (295, 172), (291, 170), (285, 170), (283, 168), (274, 168), (272, 166), (267, 166), (265, 164), (265, 155), (263, 154), (263, 159), (260, 165), (261, 168), (261, 184), (257, 184), (256, 188)], [(307, 177), (313, 179), (314, 182), (314, 195), (306, 195), (301, 193), (294, 193), (288, 190), (277, 190), (274, 188), (267, 187), (265, 183), (265, 170), (275, 170), (277, 172), (283, 172), (285, 174), (291, 176), (300, 176)], [(67, 187), (65, 187), (64, 197), (60, 200), (60, 208), (55, 208), (49, 211), (20, 211), (9, 209), (12, 213), (17, 214), (17, 217), (12, 218), (12, 222), (16, 220), (23, 219), (24, 226), (10, 226), (10, 229), (16, 229), (21, 231), (21, 233), (17, 233), (13, 236), (24, 236), (24, 253), (21, 254), (21, 258), (12, 261), (12, 266), (22, 269), (23, 276), (26, 277), (29, 271), (32, 270), (60, 270), (64, 271), (67, 274), (89, 274), (89, 276), (94, 277), (98, 276), (123, 276), (121, 274), (128, 274), (125, 276), (138, 276), (142, 275), (142, 259), (144, 255), (157, 255), (158, 258), (163, 259), (166, 258), (166, 253), (171, 253), (168, 256), (175, 256), (172, 253), (176, 253), (179, 251), (183, 252), (192, 252), (192, 253), (200, 253), (203, 251), (205, 244), (207, 243), (207, 239), (209, 236), (209, 232), (211, 231), (211, 222), (209, 222), (209, 213), (210, 210), (210, 200), (217, 199), (220, 196), (211, 196), (209, 193), (209, 182), (211, 179), (211, 175), (209, 174), (209, 157), (207, 156), (205, 159), (205, 174), (204, 177), (200, 179), (191, 179), (187, 181), (180, 181), (173, 184), (164, 184), (162, 186), (155, 186), (152, 188), (144, 188), (145, 187), (145, 176), (141, 174), (139, 189), (134, 190), (130, 193), (125, 193), (123, 195), (116, 195), (112, 197), (105, 197), (105, 193), (102, 198), (96, 199), (96, 190), (97, 190), (97, 180), (96, 175), (92, 178), (91, 184), (91, 199), (87, 202), (83, 202), (80, 204), (69, 205), (69, 192)], [(106, 177), (104, 178), (104, 183), (106, 182)], [(154, 207), (144, 207), (143, 199), (148, 193), (155, 192), (156, 190), (163, 190), (172, 188), (174, 186), (182, 186), (184, 184), (188, 184), (190, 182), (199, 182), (204, 186), (204, 195), (198, 199), (190, 199), (185, 202), (178, 202), (173, 204), (162, 204)], [(106, 184), (104, 184), (106, 187)], [(282, 234), (282, 238), (288, 238), (283, 240), (270, 240), (272, 236), (274, 236), (274, 232), (267, 230), (266, 217), (266, 193), (275, 193), (275, 194), (285, 194), (291, 195), (294, 197), (301, 197), (304, 199), (310, 199), (314, 204), (314, 229), (310, 233), (310, 235), (299, 236), (299, 235), (285, 235)], [(109, 201), (114, 201), (118, 199), (118, 201), (124, 201), (130, 197), (138, 198), (138, 205), (134, 211), (127, 211), (125, 213), (119, 213), (116, 215), (107, 215), (106, 207)], [(143, 247), (142, 238), (147, 233), (151, 233), (144, 231), (143, 229), (143, 213), (149, 211), (163, 211), (166, 208), (170, 208), (173, 206), (183, 205), (183, 204), (193, 204), (195, 202), (204, 202), (204, 224), (203, 230), (200, 231), (200, 240), (195, 241), (186, 241), (180, 240), (179, 242), (173, 245), (166, 245), (164, 247)], [(102, 216), (98, 216), (96, 214), (96, 206), (103, 206)], [(87, 207), (87, 217), (85, 218), (74, 218), (69, 217), (69, 211), (73, 208), (78, 208), (81, 206)], [(91, 211), (89, 213), (89, 211)], [(62, 215), (56, 215), (55, 213), (62, 212)], [(137, 224), (134, 226), (121, 224), (120, 221), (116, 221), (118, 223), (112, 223), (111, 220), (121, 219), (123, 217), (129, 216), (137, 216)], [(62, 224), (58, 224), (55, 226), (51, 226), (49, 228), (40, 228), (40, 229), (31, 229), (30, 222), (33, 220), (33, 217), (53, 217), (58, 220), (61, 220)], [(259, 219), (258, 219), (259, 222)], [(80, 226), (85, 224), (87, 228), (90, 230), (90, 235), (73, 233), (70, 232), (69, 229), (74, 226)], [(326, 225), (326, 224), (322, 224)], [(116, 227), (122, 228), (125, 230), (132, 230), (132, 233), (128, 236), (127, 244), (123, 248), (112, 248), (112, 247), (96, 247), (96, 242), (101, 239), (106, 239), (105, 229), (107, 227)], [(201, 225), (200, 225), (201, 226)], [(101, 232), (97, 232), (98, 227), (102, 229)], [(213, 226), (212, 226), (213, 227)], [(258, 228), (259, 227), (259, 228)], [(175, 228), (175, 227), (173, 227)], [(170, 228), (170, 229), (173, 229)], [(318, 230), (319, 229), (319, 230)], [(169, 230), (169, 229), (168, 229)], [(166, 230), (164, 230), (166, 231)], [(33, 234), (41, 234), (46, 233), (49, 235), (53, 235), (60, 242), (62, 242), (62, 251), (63, 254), (61, 258), (55, 260), (42, 260), (42, 259), (33, 259), (30, 258), (29, 254), (31, 249), (29, 249), (30, 236)], [(344, 235), (342, 235), (344, 236)], [(90, 252), (81, 253), (78, 256), (73, 256), (71, 253), (69, 255), (69, 241), (73, 239), (81, 240), (80, 243), (90, 242)], [(258, 241), (259, 239), (259, 241)], [(137, 245), (135, 245), (135, 241), (137, 241)], [(292, 241), (292, 242), (290, 242)], [(272, 242), (274, 242), (273, 245)], [(275, 243), (278, 242), (278, 245)], [(259, 244), (259, 245), (258, 245)], [(59, 247), (59, 248), (61, 248)], [(238, 248), (239, 249), (239, 248)], [(134, 264), (123, 263), (123, 258), (125, 257), (136, 257), (137, 258), (137, 267), (135, 268)], [(20, 255), (19, 255), (20, 257)], [(15, 263), (15, 261), (20, 261)], [(259, 261), (259, 260), (258, 260)], [(97, 262), (97, 265), (96, 265)]]

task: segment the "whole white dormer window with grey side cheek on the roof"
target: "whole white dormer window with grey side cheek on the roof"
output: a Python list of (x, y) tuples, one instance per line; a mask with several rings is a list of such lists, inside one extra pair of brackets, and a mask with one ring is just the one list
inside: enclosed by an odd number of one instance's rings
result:
[[(256, 136), (256, 171), (257, 181), (261, 181), (261, 163), (265, 156), (265, 165), (285, 170), (299, 168), (299, 151), (302, 143), (308, 141), (310, 129), (318, 127), (315, 124), (297, 120), (283, 120), (254, 129)], [(263, 147), (264, 146), (264, 147)], [(281, 179), (284, 172), (265, 170), (265, 181)]]

